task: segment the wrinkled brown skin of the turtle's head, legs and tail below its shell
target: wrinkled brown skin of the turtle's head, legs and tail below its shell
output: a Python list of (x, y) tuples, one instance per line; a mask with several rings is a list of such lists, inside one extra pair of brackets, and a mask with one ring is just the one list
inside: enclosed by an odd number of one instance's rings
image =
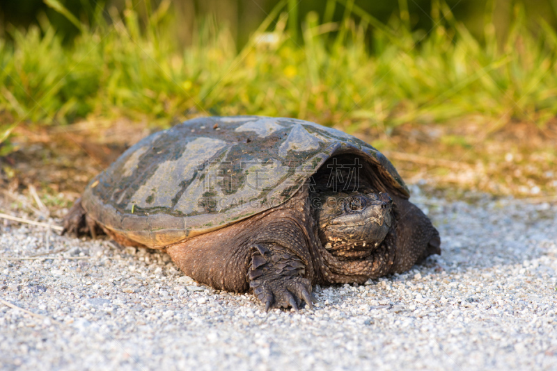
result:
[[(368, 187), (369, 190), (369, 187)], [(104, 231), (79, 201), (64, 232)], [(440, 254), (439, 233), (407, 199), (387, 192), (310, 192), (223, 229), (166, 247), (182, 272), (219, 290), (251, 291), (269, 308), (312, 308), (313, 285), (363, 283)]]

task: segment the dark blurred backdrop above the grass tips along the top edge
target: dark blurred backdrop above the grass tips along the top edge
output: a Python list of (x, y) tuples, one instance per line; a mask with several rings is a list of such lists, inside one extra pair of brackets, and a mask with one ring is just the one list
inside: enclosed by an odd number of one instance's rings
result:
[[(141, 1), (133, 1), (134, 6)], [(151, 6), (156, 8), (160, 0), (154, 0)], [(104, 4), (108, 9), (115, 6), (118, 10), (125, 9), (125, 0), (61, 0), (60, 3), (68, 8), (70, 12), (82, 21), (93, 22), (93, 9), (97, 3)], [(214, 16), (219, 22), (223, 22), (230, 27), (238, 47), (242, 47), (249, 36), (259, 24), (267, 17), (272, 8), (278, 3), (276, 0), (174, 0), (173, 13), (178, 21), (175, 36), (180, 44), (185, 45), (191, 42), (191, 35), (196, 28), (196, 19), (207, 15)], [(301, 20), (305, 19), (307, 13), (317, 12), (323, 17), (327, 10), (325, 0), (303, 0), (294, 1), (297, 7), (296, 20), (300, 28)], [(504, 38), (508, 33), (510, 22), (512, 21), (512, 8), (518, 3), (523, 4), (530, 26), (536, 28), (538, 18), (545, 19), (552, 26), (556, 26), (557, 19), (555, 7), (556, 0), (448, 0), (447, 5), (451, 8), (455, 18), (462, 21), (477, 38), (483, 38), (483, 26), (486, 7), (494, 6), (494, 25), (499, 38)], [(49, 8), (42, 0), (18, 0), (1, 1), (0, 3), (0, 35), (6, 35), (6, 28), (10, 26), (27, 28), (31, 24), (37, 24), (37, 17), (40, 13), (45, 13), (56, 30), (63, 35), (65, 40), (74, 38), (79, 30), (72, 25), (63, 15)], [(354, 1), (356, 6), (361, 7), (380, 22), (387, 23), (390, 17), (400, 15), (400, 1)], [(403, 4), (404, 7), (404, 4)], [(432, 0), (410, 0), (407, 1), (409, 13), (409, 23), (412, 29), (423, 29), (429, 31), (432, 26), (430, 17)], [(145, 17), (145, 9), (138, 9)], [(329, 16), (334, 22), (343, 18), (344, 9), (338, 6)], [(10, 25), (10, 26), (8, 26)], [(301, 29), (301, 28), (300, 28)]]

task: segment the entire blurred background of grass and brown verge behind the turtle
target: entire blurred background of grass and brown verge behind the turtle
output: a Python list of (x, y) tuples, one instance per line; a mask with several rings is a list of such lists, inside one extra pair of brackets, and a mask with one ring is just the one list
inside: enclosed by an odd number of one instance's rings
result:
[(556, 15), (557, 0), (1, 1), (0, 177), (29, 174), (36, 143), (77, 174), (74, 156), (98, 154), (86, 181), (178, 120), (269, 115), (358, 135), (411, 182), (554, 193)]

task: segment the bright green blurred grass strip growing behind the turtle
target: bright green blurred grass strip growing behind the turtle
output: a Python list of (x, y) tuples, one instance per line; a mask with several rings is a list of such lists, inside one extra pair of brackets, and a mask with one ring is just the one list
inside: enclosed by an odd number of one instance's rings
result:
[(433, 3), (437, 26), (411, 32), (405, 0), (389, 24), (353, 1), (329, 0), (327, 14), (345, 8), (342, 22), (310, 13), (301, 35), (290, 38), (295, 27), (286, 11), (295, 2), (284, 0), (237, 52), (226, 27), (212, 19), (200, 22), (189, 47), (178, 47), (170, 1), (148, 12), (148, 22), (128, 6), (123, 17), (110, 12), (106, 23), (99, 7), (94, 26), (56, 0), (45, 2), (81, 33), (64, 45), (41, 18), (40, 28), (10, 31), (9, 44), (0, 40), (0, 156), (13, 149), (9, 138), (21, 122), (124, 116), (168, 126), (195, 113), (258, 114), (389, 132), (406, 122), (478, 114), (495, 126), (513, 118), (544, 126), (557, 113), (557, 33), (542, 21), (542, 32), (529, 30), (519, 7), (498, 45), (489, 6), (482, 42), (443, 1)]

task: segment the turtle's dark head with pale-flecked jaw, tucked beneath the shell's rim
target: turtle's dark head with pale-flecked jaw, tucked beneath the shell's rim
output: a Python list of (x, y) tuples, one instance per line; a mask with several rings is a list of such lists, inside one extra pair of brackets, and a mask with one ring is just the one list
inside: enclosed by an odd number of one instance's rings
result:
[(323, 246), (337, 256), (367, 256), (393, 226), (386, 192), (323, 192), (312, 200)]

